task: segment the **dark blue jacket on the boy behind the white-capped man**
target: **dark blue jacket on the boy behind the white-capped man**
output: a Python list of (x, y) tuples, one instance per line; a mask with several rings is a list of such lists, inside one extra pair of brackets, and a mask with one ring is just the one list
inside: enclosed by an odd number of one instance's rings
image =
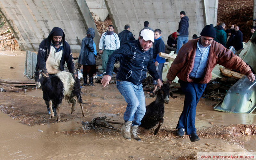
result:
[(165, 58), (159, 57), (158, 53), (164, 53), (164, 41), (161, 36), (158, 39), (154, 39), (154, 46), (153, 46), (153, 62), (164, 63)]

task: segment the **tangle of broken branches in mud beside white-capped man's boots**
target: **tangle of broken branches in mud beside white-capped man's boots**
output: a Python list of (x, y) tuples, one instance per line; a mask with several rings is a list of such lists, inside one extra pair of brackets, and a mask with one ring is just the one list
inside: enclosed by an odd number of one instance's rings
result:
[(81, 121), (81, 124), (83, 125), (83, 130), (90, 130), (90, 129), (95, 129), (97, 127), (104, 127), (104, 128), (108, 128), (108, 129), (113, 129), (113, 130), (118, 130), (120, 131), (120, 129), (113, 127), (111, 124), (124, 124), (121, 122), (114, 122), (114, 120), (111, 119), (107, 119), (106, 116), (102, 117), (95, 117), (92, 119), (91, 122), (83, 122)]

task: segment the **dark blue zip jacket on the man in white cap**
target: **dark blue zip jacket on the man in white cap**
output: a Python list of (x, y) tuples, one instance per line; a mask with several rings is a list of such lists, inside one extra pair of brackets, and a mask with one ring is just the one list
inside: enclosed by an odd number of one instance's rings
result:
[(154, 80), (159, 79), (156, 66), (153, 63), (153, 49), (143, 51), (139, 40), (125, 42), (119, 49), (114, 51), (108, 58), (106, 75), (111, 76), (115, 62), (119, 60), (120, 68), (116, 79), (132, 82), (135, 85), (141, 84), (147, 77), (146, 68)]

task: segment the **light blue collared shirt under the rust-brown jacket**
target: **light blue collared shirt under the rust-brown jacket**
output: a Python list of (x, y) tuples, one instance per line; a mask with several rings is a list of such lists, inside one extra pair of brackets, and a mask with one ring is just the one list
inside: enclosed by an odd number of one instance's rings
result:
[(197, 42), (196, 48), (196, 57), (194, 62), (194, 67), (192, 72), (189, 74), (190, 77), (193, 78), (203, 78), (204, 77), (204, 69), (207, 65), (207, 60), (209, 56), (210, 46), (204, 47), (200, 44), (200, 39)]

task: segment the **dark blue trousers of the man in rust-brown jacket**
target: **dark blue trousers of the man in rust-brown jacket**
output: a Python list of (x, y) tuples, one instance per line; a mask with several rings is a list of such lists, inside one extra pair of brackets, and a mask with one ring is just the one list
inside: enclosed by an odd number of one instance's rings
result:
[(179, 80), (179, 84), (182, 92), (185, 94), (185, 100), (176, 129), (185, 128), (186, 134), (189, 135), (196, 132), (196, 105), (204, 92), (206, 84), (189, 83), (181, 80)]

